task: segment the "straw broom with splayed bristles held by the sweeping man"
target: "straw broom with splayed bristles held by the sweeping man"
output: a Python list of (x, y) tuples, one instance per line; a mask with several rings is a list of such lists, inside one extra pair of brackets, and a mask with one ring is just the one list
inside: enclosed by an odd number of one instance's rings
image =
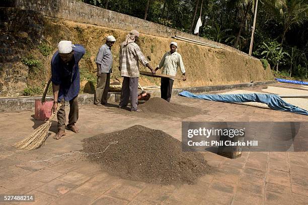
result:
[(22, 141), (17, 142), (14, 146), (18, 149), (34, 150), (44, 145), (45, 140), (48, 137), (48, 131), (51, 127), (52, 120), (57, 115), (61, 106), (61, 104), (58, 104), (56, 112), (51, 114), (50, 118), (48, 119), (48, 121), (46, 121), (46, 123), (40, 125), (33, 131), (31, 135), (29, 135)]

